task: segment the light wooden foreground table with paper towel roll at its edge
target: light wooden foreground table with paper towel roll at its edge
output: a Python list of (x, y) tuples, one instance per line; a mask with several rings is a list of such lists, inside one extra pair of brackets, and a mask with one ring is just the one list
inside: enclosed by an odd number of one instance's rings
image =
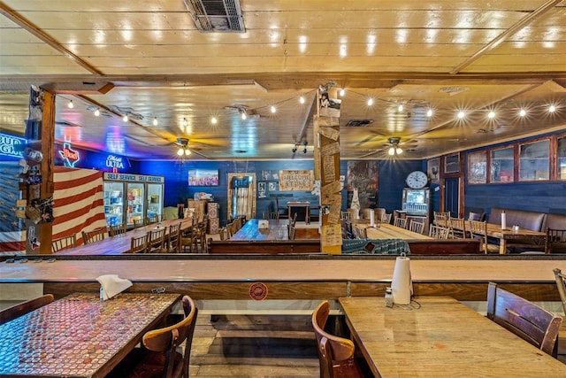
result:
[(566, 365), (452, 297), (340, 297), (356, 348), (376, 376), (563, 377)]

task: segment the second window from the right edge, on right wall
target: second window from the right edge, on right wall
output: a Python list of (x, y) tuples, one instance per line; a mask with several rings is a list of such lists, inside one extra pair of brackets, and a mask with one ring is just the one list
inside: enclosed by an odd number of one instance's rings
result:
[(549, 148), (548, 139), (519, 145), (519, 181), (549, 180)]

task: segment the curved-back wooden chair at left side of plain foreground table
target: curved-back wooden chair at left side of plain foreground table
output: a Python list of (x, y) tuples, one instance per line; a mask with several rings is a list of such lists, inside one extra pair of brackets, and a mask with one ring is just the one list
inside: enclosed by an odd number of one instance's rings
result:
[(354, 358), (354, 343), (344, 337), (334, 336), (325, 331), (330, 304), (323, 301), (312, 312), (312, 328), (317, 338), (320, 377), (363, 377), (363, 371)]

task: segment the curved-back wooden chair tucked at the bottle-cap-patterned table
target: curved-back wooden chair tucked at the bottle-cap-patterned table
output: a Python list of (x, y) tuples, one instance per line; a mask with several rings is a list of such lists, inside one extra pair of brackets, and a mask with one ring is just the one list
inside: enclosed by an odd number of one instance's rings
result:
[(188, 378), (198, 309), (188, 296), (184, 296), (182, 302), (185, 319), (146, 332), (142, 338), (144, 348), (134, 348), (107, 377)]

